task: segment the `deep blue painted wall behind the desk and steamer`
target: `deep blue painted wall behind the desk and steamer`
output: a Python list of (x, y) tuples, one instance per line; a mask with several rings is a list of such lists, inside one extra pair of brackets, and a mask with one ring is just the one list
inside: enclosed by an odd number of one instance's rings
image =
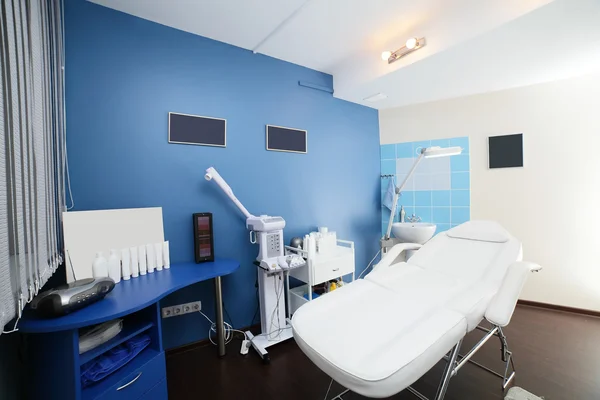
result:
[[(258, 248), (240, 212), (204, 170), (214, 166), (255, 214), (281, 215), (286, 241), (317, 225), (356, 242), (357, 272), (378, 248), (377, 111), (298, 86), (332, 77), (145, 21), (66, 1), (67, 146), (76, 210), (163, 207), (173, 262), (193, 260), (191, 215), (214, 214), (215, 252), (240, 261), (224, 280), (236, 326), (256, 309)], [(167, 143), (167, 113), (227, 119), (227, 148)], [(308, 154), (265, 150), (265, 125), (308, 130)], [(202, 265), (198, 265), (202, 268)], [(202, 300), (212, 283), (165, 304)], [(207, 336), (200, 315), (164, 320), (167, 347)]]

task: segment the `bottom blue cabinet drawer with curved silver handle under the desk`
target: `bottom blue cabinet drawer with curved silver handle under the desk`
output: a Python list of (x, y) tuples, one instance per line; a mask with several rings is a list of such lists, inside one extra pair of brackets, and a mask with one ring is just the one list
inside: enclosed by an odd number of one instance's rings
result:
[[(143, 356), (145, 352), (153, 351), (150, 349), (144, 350), (138, 355)], [(131, 361), (134, 362), (135, 358)], [(116, 372), (118, 373), (118, 372)], [(118, 381), (110, 389), (106, 390), (101, 397), (101, 400), (125, 400), (137, 399), (144, 393), (150, 391), (158, 382), (164, 380), (167, 376), (165, 354), (157, 353), (155, 357), (150, 359), (145, 364), (133, 369), (127, 376)], [(165, 384), (166, 385), (166, 384)]]

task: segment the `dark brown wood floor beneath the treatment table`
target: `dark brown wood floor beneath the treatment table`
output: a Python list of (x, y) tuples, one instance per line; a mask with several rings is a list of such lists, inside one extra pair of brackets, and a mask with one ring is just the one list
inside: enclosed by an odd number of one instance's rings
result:
[[(600, 399), (600, 318), (518, 306), (505, 333), (514, 352), (517, 386), (546, 400)], [(479, 331), (469, 334), (463, 350), (480, 337)], [(216, 357), (211, 345), (168, 354), (169, 399), (323, 399), (330, 378), (293, 340), (270, 349), (270, 365), (263, 365), (252, 349), (247, 356), (240, 355), (239, 348), (240, 341), (234, 340), (223, 359)], [(492, 338), (474, 359), (499, 371), (499, 348)], [(415, 387), (433, 396), (442, 368), (441, 363), (436, 365)], [(334, 383), (332, 393), (341, 390)], [(502, 398), (500, 379), (471, 364), (451, 380), (446, 395), (447, 400)], [(364, 397), (344, 396), (355, 399)], [(392, 399), (415, 397), (402, 392)]]

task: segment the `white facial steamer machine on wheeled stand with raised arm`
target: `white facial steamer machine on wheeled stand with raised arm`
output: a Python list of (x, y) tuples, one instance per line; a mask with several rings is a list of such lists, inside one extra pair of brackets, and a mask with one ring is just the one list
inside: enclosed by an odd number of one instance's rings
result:
[(252, 347), (265, 362), (269, 361), (267, 347), (290, 339), (291, 325), (285, 317), (284, 274), (291, 268), (305, 264), (299, 255), (284, 255), (282, 217), (269, 215), (255, 216), (235, 197), (231, 187), (210, 167), (204, 175), (207, 181), (213, 180), (246, 217), (246, 228), (250, 230), (250, 243), (258, 243), (258, 291), (260, 303), (261, 334), (254, 336), (250, 331), (246, 336)]

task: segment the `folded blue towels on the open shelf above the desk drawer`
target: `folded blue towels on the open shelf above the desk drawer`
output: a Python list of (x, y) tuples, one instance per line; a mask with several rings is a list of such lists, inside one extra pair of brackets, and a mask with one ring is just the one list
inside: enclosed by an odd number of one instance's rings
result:
[(106, 378), (131, 361), (149, 344), (150, 336), (138, 335), (83, 364), (81, 366), (81, 387), (85, 388)]

